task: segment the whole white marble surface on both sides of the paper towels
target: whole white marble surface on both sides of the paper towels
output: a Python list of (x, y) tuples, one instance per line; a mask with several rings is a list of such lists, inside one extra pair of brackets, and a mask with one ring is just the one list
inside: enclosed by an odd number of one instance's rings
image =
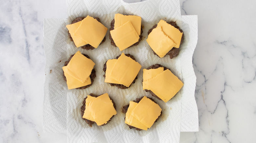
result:
[[(199, 132), (181, 133), (180, 142), (255, 142), (256, 1), (180, 4), (182, 15), (198, 15), (199, 111)], [(67, 18), (65, 1), (1, 1), (0, 142), (66, 142), (43, 133), (43, 18)]]

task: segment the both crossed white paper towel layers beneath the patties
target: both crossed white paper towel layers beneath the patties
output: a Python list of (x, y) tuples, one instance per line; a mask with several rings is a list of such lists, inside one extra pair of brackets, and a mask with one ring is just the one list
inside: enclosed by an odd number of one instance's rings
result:
[[(129, 142), (179, 142), (180, 131), (198, 130), (198, 119), (195, 118), (198, 113), (197, 108), (195, 111), (196, 103), (194, 99), (196, 80), (192, 67), (192, 55), (197, 42), (197, 17), (182, 16), (181, 20), (178, 0), (162, 0), (157, 1), (157, 3), (150, 0), (134, 4), (127, 4), (119, 0), (108, 1), (110, 0), (96, 3), (67, 0), (67, 11), (70, 15), (68, 22), (64, 19), (44, 20), (44, 47), (47, 59), (45, 68), (44, 131), (67, 131), (69, 142), (112, 142), (121, 140)], [(184, 82), (181, 92), (168, 103), (153, 97), (163, 109), (163, 115), (148, 131), (128, 130), (128, 126), (124, 124), (123, 118), (125, 115), (121, 113), (121, 107), (128, 104), (130, 100), (135, 100), (144, 95), (152, 97), (148, 92), (142, 90), (142, 69), (135, 84), (128, 89), (117, 89), (104, 83), (104, 77), (102, 76), (104, 74), (102, 71), (103, 64), (107, 59), (115, 58), (122, 53), (117, 47), (113, 47), (110, 44), (109, 31), (106, 35), (106, 41), (97, 49), (90, 51), (75, 48), (75, 45), (68, 39), (65, 25), (71, 23), (75, 17), (88, 14), (99, 17), (102, 24), (110, 28), (110, 22), (115, 13), (139, 15), (142, 17), (142, 25), (144, 26), (143, 38), (139, 45), (125, 49), (123, 52), (135, 56), (142, 68), (147, 68), (156, 63), (162, 64), (170, 68)], [(170, 59), (168, 56), (160, 59), (153, 55), (152, 50), (145, 41), (148, 29), (157, 24), (160, 19), (176, 20), (180, 27), (181, 21), (184, 21), (184, 24), (182, 24), (185, 34), (184, 43), (181, 45), (179, 56), (174, 59)], [(87, 89), (67, 90), (67, 85), (62, 79), (62, 66), (69, 56), (78, 50), (89, 55), (96, 63), (97, 76), (94, 84)], [(183, 57), (185, 58), (184, 60)], [(187, 68), (181, 65), (185, 65)], [(189, 77), (188, 79), (190, 80), (184, 80), (183, 74)], [(93, 126), (91, 128), (81, 118), (80, 107), (83, 98), (90, 93), (109, 93), (117, 104), (117, 115), (106, 126)], [(183, 100), (184, 105), (182, 104)], [(189, 106), (187, 106), (187, 103)], [(65, 109), (67, 109), (67, 112)], [(182, 116), (187, 118), (181, 118)], [(193, 121), (189, 122), (187, 120), (190, 119), (189, 116), (193, 116)]]

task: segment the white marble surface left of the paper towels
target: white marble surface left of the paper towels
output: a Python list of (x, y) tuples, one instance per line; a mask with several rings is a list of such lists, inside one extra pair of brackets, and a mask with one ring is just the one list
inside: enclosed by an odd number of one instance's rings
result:
[(42, 135), (45, 55), (40, 4), (0, 5), (0, 142), (54, 141), (54, 135)]

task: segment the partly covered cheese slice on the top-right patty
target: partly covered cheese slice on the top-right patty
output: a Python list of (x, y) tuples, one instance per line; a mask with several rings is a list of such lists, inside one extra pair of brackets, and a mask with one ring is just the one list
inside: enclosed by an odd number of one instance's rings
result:
[(160, 22), (157, 24), (157, 27), (162, 27), (163, 32), (176, 43), (174, 46), (175, 48), (180, 47), (183, 33), (179, 29), (175, 28), (171, 24), (168, 24), (164, 20), (160, 20)]

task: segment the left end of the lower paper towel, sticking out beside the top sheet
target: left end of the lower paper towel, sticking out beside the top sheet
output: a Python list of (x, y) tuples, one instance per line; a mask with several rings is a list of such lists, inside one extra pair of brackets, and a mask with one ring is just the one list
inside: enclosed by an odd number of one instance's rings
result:
[(44, 19), (44, 49), (46, 56), (43, 122), (44, 132), (66, 133), (68, 89), (62, 76), (62, 59), (67, 56), (66, 19)]

